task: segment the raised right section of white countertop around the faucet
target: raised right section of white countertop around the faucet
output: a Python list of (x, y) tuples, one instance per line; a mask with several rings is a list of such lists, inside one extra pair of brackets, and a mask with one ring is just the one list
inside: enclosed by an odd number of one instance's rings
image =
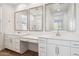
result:
[(79, 34), (75, 34), (75, 33), (62, 33), (62, 35), (60, 35), (60, 36), (42, 35), (40, 37), (47, 38), (47, 39), (61, 39), (61, 40), (79, 41)]

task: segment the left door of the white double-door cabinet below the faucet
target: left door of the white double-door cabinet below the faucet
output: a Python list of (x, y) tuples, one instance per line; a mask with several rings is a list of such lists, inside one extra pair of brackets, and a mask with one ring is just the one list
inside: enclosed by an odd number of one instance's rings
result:
[(56, 56), (56, 45), (47, 45), (47, 56)]

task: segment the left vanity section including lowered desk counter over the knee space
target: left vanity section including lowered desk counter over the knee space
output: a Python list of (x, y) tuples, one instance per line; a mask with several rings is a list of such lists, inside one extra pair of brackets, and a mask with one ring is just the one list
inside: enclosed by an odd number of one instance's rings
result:
[(16, 35), (16, 34), (5, 34), (5, 48), (20, 54), (28, 50), (28, 42), (38, 43), (38, 37)]

